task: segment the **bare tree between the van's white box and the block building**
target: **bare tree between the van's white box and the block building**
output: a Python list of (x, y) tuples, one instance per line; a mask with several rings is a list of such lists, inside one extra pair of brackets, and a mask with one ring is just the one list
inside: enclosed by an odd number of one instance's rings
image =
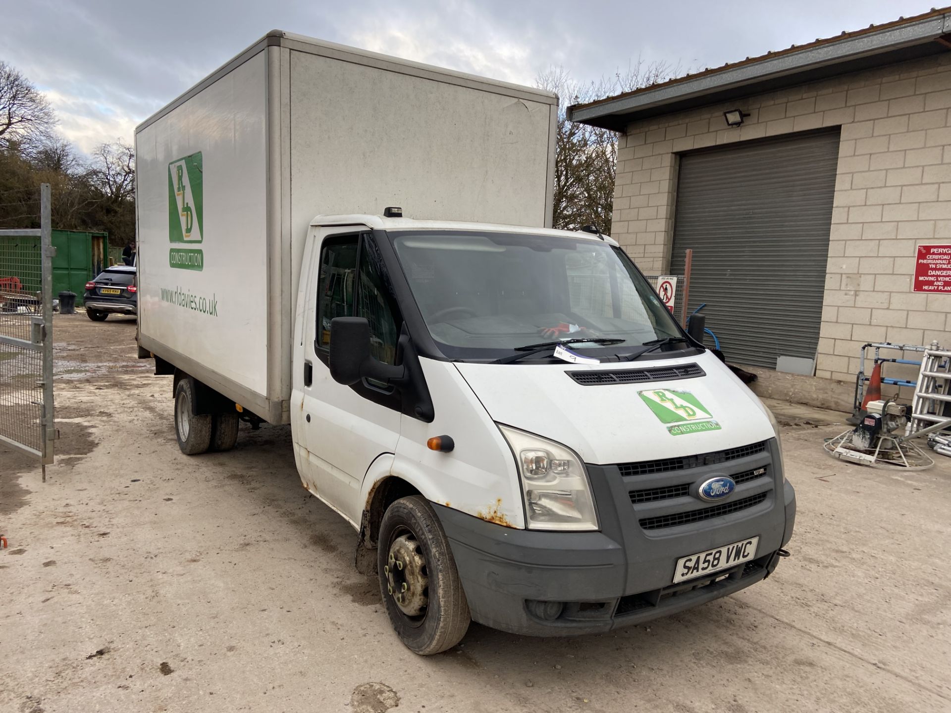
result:
[(558, 95), (555, 137), (553, 226), (577, 230), (593, 224), (611, 232), (617, 134), (609, 129), (574, 124), (565, 110), (574, 104), (648, 87), (680, 74), (680, 66), (666, 62), (645, 65), (640, 59), (624, 72), (587, 85), (575, 82), (563, 67), (552, 67), (535, 80), (535, 86)]

